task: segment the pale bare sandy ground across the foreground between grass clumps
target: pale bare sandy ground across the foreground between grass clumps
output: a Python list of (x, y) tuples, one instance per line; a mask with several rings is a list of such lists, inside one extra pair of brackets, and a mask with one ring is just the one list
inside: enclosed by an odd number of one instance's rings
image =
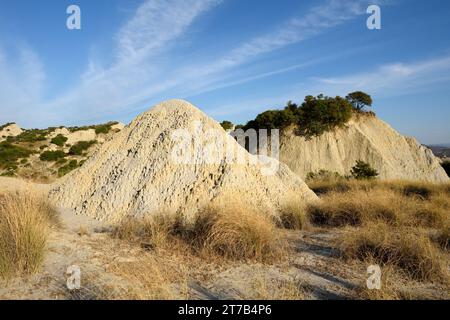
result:
[[(2, 188), (27, 188), (29, 184), (15, 179), (0, 179)], [(35, 185), (45, 191), (45, 185)], [(162, 265), (175, 264), (176, 259), (164, 252), (146, 251), (126, 242), (112, 239), (111, 226), (104, 225), (69, 211), (61, 212), (61, 226), (55, 228), (49, 239), (48, 254), (41, 271), (27, 278), (0, 282), (0, 299), (96, 299), (105, 298), (105, 288), (128, 286), (129, 280), (112, 272), (117, 263), (141, 264), (146, 259), (158, 259)], [(275, 265), (259, 263), (209, 263), (200, 258), (189, 258), (188, 295), (174, 298), (190, 299), (252, 299), (265, 290), (264, 298), (271, 296), (277, 283), (293, 283), (301, 287), (305, 299), (348, 299), (366, 282), (367, 266), (344, 263), (333, 247), (335, 233), (286, 232), (292, 246), (286, 261)], [(81, 269), (82, 289), (69, 291), (66, 287), (70, 266)], [(261, 281), (262, 280), (262, 281)], [(95, 283), (95, 285), (93, 285)], [(99, 290), (99, 287), (100, 288)], [(413, 290), (425, 296), (446, 298), (442, 288), (415, 284)], [(107, 296), (107, 295), (106, 295)], [(125, 296), (127, 297), (127, 296)]]

